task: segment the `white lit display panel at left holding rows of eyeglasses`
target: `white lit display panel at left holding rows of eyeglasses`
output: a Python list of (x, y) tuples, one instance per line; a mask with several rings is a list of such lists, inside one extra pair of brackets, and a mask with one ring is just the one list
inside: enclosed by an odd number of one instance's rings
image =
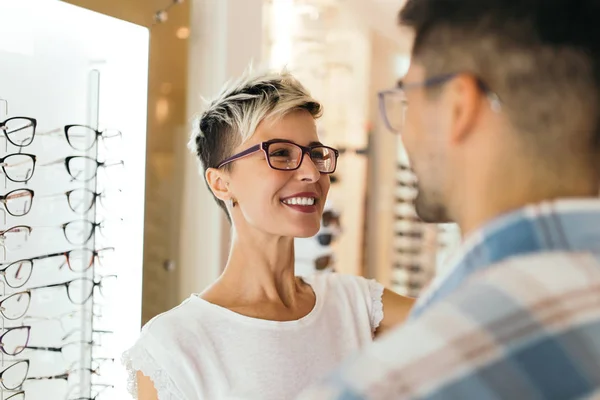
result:
[(125, 398), (148, 31), (56, 1), (0, 15), (0, 400)]

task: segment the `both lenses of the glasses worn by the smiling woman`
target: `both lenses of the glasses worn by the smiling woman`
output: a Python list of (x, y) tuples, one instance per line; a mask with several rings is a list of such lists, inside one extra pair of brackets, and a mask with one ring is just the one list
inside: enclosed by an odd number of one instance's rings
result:
[[(299, 168), (304, 156), (301, 147), (293, 143), (276, 142), (269, 144), (267, 149), (269, 165), (278, 170), (294, 170)], [(335, 171), (336, 155), (329, 147), (315, 146), (311, 147), (310, 159), (322, 173), (331, 173)]]

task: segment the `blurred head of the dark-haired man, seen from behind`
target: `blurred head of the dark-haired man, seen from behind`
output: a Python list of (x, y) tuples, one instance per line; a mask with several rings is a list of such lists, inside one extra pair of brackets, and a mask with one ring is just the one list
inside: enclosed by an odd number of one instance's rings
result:
[(597, 0), (408, 0), (401, 135), (424, 220), (460, 220), (478, 196), (504, 198), (500, 209), (587, 193), (600, 153), (597, 15)]

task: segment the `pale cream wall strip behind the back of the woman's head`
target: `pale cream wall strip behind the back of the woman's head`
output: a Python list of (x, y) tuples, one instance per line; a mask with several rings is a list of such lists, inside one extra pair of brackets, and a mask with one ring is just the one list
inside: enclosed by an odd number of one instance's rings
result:
[[(202, 98), (211, 98), (250, 61), (261, 62), (262, 0), (193, 0), (188, 65), (188, 116), (201, 112)], [(178, 143), (187, 145), (189, 131)], [(179, 297), (202, 291), (224, 263), (222, 245), (229, 227), (198, 173), (195, 155), (181, 151), (183, 196), (178, 255)]]

